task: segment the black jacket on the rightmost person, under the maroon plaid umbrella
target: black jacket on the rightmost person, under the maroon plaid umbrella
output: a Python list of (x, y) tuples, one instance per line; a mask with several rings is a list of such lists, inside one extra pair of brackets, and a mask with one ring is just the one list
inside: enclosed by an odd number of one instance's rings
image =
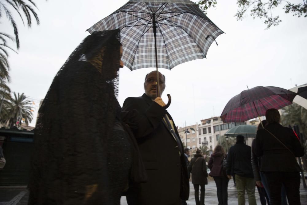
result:
[(267, 130), (260, 129), (257, 131), (255, 140), (255, 154), (262, 157), (260, 171), (301, 171), (295, 157), (303, 156), (304, 148), (293, 130), (278, 123), (269, 124), (265, 128), (285, 144), (294, 155)]

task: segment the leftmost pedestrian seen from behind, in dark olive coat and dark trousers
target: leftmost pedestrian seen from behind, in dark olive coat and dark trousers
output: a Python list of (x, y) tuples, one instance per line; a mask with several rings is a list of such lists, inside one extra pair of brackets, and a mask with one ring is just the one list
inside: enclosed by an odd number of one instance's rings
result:
[[(188, 171), (192, 173), (192, 184), (195, 190), (195, 202), (196, 205), (205, 204), (205, 184), (208, 184), (208, 173), (206, 160), (202, 155), (202, 151), (197, 149), (196, 155), (191, 159), (188, 165)], [(199, 187), (200, 187), (200, 199), (199, 199)]]

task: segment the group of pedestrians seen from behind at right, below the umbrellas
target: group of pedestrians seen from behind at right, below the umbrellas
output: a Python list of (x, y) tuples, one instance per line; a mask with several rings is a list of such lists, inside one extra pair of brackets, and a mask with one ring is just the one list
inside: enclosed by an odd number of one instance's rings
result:
[[(277, 109), (266, 111), (266, 120), (258, 126), (256, 138), (252, 147), (245, 144), (244, 136), (236, 136), (236, 144), (226, 154), (217, 145), (208, 161), (209, 175), (216, 183), (219, 205), (227, 205), (227, 188), (229, 179), (234, 176), (238, 195), (238, 205), (245, 205), (245, 192), (248, 204), (256, 205), (255, 187), (259, 192), (262, 205), (300, 205), (300, 174), (296, 157), (304, 155), (298, 137), (292, 129), (279, 124), (280, 114)], [(188, 165), (192, 173), (192, 183), (195, 188), (196, 205), (204, 205), (203, 196), (207, 174), (204, 173), (204, 158), (197, 150), (196, 155)], [(196, 160), (199, 160), (198, 166)], [(226, 160), (226, 163), (225, 163)], [(196, 170), (197, 169), (197, 170)], [(194, 176), (193, 178), (193, 175)], [(200, 201), (198, 199), (198, 184), (201, 187)]]

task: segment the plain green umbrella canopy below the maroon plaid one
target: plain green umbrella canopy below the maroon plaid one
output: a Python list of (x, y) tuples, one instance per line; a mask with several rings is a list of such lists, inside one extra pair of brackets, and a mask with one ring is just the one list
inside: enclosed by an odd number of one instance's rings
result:
[(236, 137), (243, 135), (244, 137), (256, 137), (257, 127), (249, 124), (241, 124), (229, 129), (224, 135), (229, 137)]

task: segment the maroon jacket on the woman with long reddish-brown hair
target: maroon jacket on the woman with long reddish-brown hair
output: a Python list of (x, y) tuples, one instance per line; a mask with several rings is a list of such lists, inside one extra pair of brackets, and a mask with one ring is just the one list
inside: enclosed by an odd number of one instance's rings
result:
[(222, 152), (216, 152), (210, 156), (210, 160), (208, 162), (210, 176), (226, 176), (226, 172), (223, 171), (223, 159), (224, 155)]

